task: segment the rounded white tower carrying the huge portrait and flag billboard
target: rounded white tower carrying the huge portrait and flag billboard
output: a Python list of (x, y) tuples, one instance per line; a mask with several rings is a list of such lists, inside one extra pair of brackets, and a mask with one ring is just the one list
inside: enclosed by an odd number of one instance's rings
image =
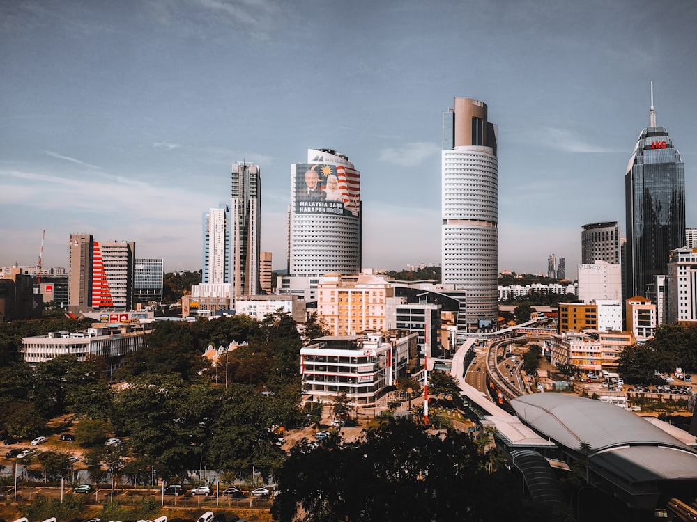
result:
[(360, 172), (331, 149), (308, 149), (291, 165), (288, 275), (284, 294), (317, 300), (324, 274), (358, 274), (362, 262)]

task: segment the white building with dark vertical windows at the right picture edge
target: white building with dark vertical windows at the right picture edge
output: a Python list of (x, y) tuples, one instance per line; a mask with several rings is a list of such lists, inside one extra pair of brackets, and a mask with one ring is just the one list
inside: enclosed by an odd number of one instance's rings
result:
[(671, 252), (666, 275), (668, 323), (697, 322), (697, 248)]

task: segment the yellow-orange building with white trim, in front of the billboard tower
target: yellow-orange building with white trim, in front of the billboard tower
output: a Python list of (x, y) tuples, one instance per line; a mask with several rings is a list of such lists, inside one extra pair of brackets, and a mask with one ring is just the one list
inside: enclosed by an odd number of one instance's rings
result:
[(385, 330), (387, 298), (392, 296), (392, 286), (380, 276), (325, 274), (318, 287), (317, 315), (331, 335)]

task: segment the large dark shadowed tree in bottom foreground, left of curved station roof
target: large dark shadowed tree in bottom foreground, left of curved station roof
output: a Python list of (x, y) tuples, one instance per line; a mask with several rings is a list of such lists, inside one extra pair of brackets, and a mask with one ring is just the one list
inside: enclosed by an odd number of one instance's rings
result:
[(390, 419), (355, 443), (328, 439), (303, 451), (291, 450), (277, 473), (279, 522), (549, 520), (523, 504), (505, 467), (487, 473), (487, 457), (464, 432), (429, 434)]

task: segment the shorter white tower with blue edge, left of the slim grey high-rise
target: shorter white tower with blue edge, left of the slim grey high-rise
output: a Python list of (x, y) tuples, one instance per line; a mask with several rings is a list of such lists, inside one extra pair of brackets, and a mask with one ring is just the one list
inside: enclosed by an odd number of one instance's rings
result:
[(230, 282), (230, 207), (221, 203), (203, 217), (204, 250), (201, 283)]

